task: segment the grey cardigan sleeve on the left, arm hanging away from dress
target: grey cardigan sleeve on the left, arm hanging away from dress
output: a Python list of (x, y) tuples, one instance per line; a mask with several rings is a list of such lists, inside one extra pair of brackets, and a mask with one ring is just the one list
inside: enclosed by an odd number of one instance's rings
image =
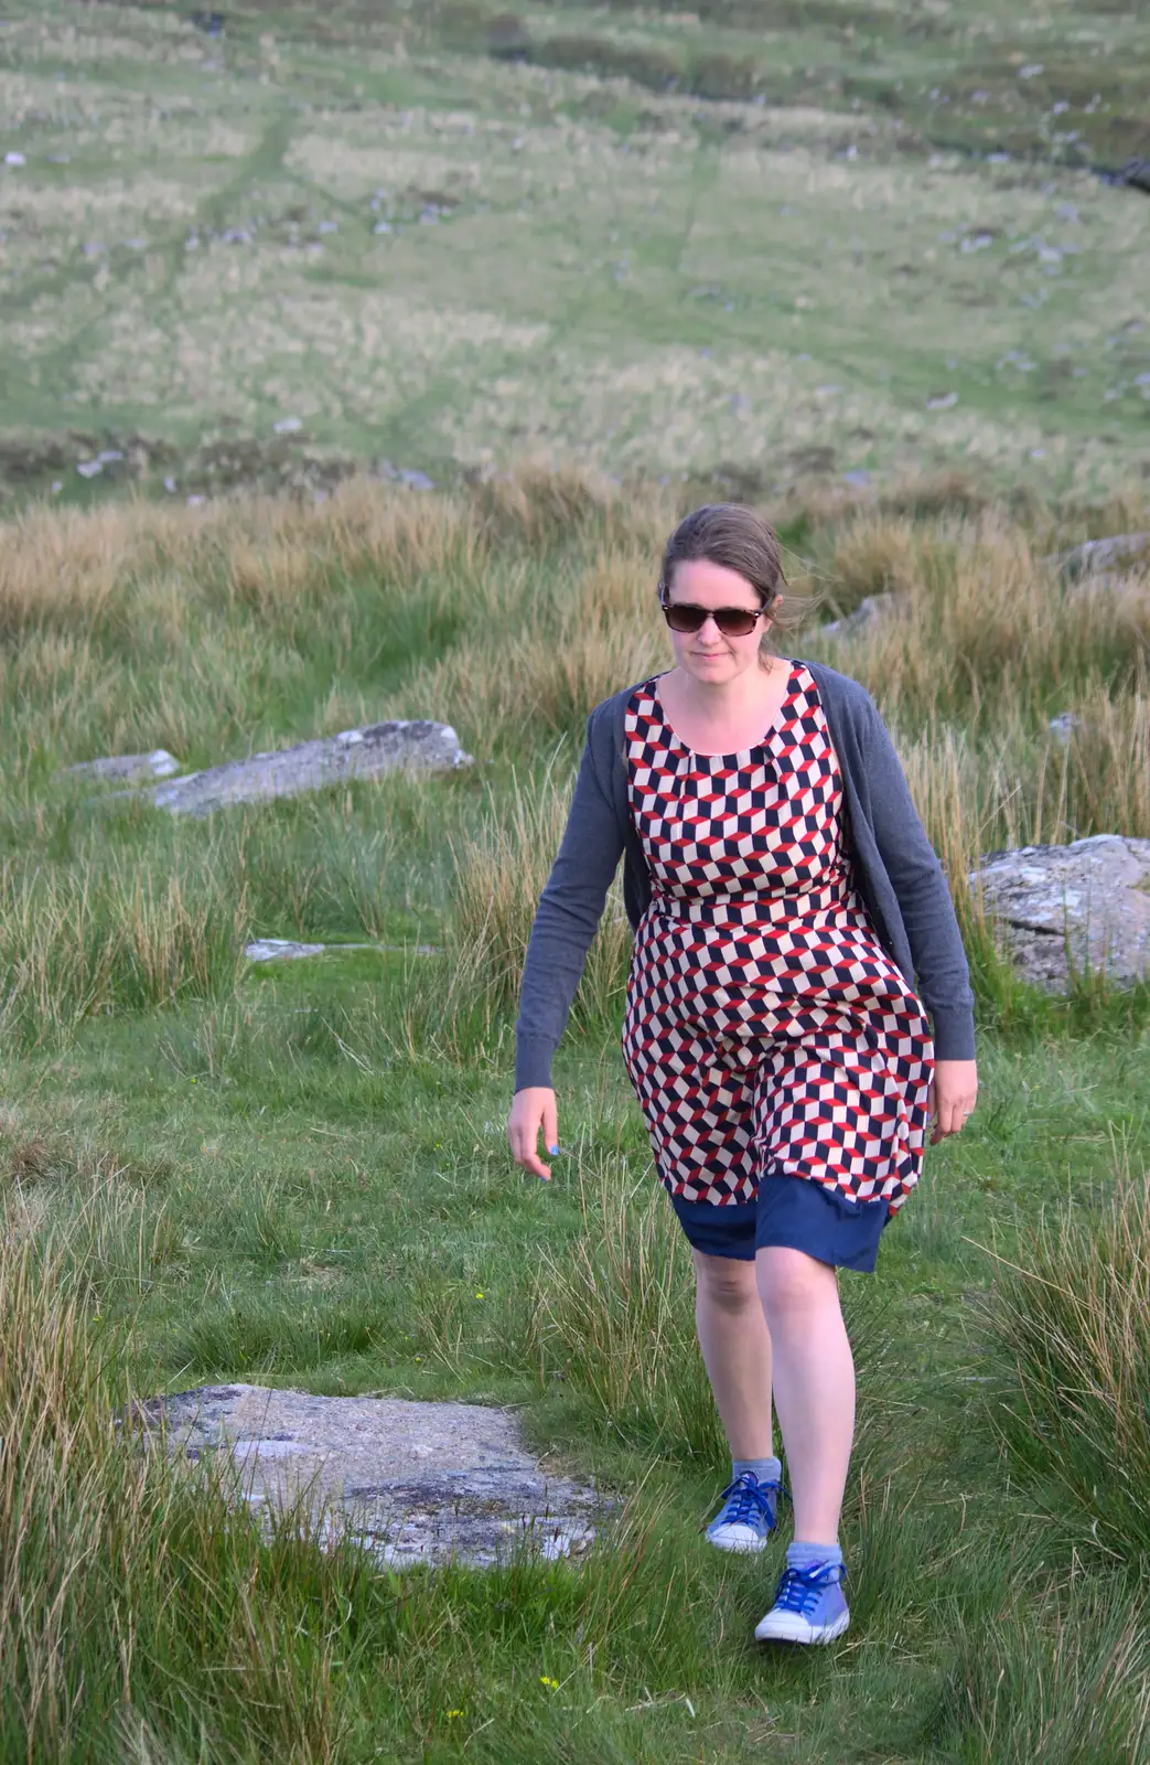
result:
[(527, 941), (515, 1024), (515, 1089), (550, 1085), (550, 1063), (566, 1027), (607, 891), (623, 856), (619, 817), (594, 764), (591, 724), (563, 844), (540, 897)]

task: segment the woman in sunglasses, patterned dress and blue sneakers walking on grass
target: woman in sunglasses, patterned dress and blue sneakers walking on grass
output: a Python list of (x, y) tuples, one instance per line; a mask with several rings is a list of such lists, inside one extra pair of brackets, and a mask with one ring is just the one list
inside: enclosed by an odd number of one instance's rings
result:
[(750, 508), (698, 508), (667, 544), (676, 665), (589, 717), (524, 964), (508, 1138), (550, 1177), (552, 1054), (623, 856), (623, 1057), (691, 1244), (732, 1453), (707, 1537), (757, 1551), (774, 1528), (774, 1398), (794, 1543), (755, 1636), (825, 1643), (848, 1624), (854, 1363), (836, 1271), (875, 1267), (928, 1126), (931, 1142), (961, 1130), (977, 1075), (945, 875), (870, 695), (771, 650), (783, 586)]

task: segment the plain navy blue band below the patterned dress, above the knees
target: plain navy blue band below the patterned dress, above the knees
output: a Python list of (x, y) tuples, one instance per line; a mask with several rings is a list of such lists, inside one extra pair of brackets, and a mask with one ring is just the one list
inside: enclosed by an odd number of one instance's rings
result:
[(679, 1225), (706, 1257), (753, 1262), (757, 1250), (783, 1244), (836, 1269), (870, 1273), (891, 1218), (884, 1200), (852, 1202), (810, 1177), (760, 1177), (753, 1202), (718, 1207), (670, 1197)]

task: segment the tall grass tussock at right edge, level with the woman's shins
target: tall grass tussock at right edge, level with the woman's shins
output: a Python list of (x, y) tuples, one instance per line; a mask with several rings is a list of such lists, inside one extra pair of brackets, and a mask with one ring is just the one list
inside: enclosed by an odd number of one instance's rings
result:
[(1076, 1198), (1000, 1262), (995, 1416), (1081, 1546), (1150, 1558), (1150, 1172)]

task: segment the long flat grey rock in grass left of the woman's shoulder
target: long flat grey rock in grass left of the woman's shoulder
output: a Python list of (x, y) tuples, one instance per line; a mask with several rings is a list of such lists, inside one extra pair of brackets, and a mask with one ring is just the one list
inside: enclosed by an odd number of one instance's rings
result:
[(471, 766), (450, 724), (397, 718), (367, 729), (344, 729), (339, 736), (300, 741), (275, 754), (252, 754), (206, 771), (187, 773), (145, 794), (173, 815), (210, 815), (229, 803), (268, 803), (277, 796), (300, 796), (346, 778), (377, 778), (400, 766), (453, 771)]

